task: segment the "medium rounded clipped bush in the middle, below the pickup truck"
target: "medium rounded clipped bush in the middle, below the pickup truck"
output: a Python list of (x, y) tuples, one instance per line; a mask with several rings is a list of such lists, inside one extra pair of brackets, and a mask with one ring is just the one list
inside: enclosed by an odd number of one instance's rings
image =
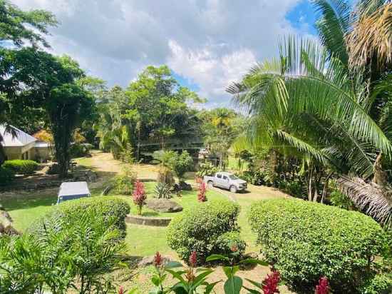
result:
[(234, 234), (239, 233), (238, 214), (239, 206), (229, 201), (199, 203), (170, 222), (167, 244), (183, 260), (188, 260), (192, 251), (201, 262), (211, 254), (225, 254), (229, 240), (235, 241), (243, 253), (244, 242)]

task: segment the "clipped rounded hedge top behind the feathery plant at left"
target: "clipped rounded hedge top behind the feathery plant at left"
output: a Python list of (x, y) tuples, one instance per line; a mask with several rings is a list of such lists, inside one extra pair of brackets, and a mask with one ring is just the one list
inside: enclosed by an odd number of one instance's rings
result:
[(111, 220), (125, 237), (125, 216), (130, 213), (126, 201), (110, 196), (96, 196), (65, 201), (54, 206), (45, 217), (47, 219), (62, 218), (65, 222), (76, 222), (83, 213), (99, 214), (107, 222)]

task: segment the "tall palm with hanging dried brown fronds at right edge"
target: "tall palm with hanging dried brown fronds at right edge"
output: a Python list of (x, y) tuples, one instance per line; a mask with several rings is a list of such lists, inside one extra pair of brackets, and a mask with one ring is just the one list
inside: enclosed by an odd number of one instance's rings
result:
[[(391, 140), (392, 3), (388, 0), (360, 0), (356, 6), (347, 1), (314, 1), (321, 12), (316, 23), (321, 42), (332, 56), (346, 56), (342, 64), (347, 74), (361, 74), (358, 83), (366, 84), (357, 102), (366, 109)], [(373, 166), (373, 181), (360, 178), (341, 180), (342, 188), (373, 216), (391, 218), (391, 191), (387, 178), (391, 158), (378, 152)], [(377, 186), (373, 186), (376, 184)]]

